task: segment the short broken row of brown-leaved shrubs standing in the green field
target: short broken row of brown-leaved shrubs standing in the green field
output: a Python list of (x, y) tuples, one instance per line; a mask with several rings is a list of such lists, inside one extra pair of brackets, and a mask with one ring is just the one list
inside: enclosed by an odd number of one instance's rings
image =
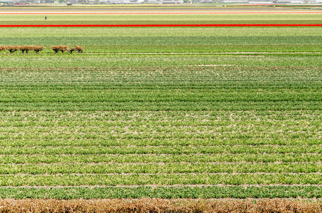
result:
[[(21, 53), (26, 53), (28, 54), (29, 51), (35, 51), (37, 54), (41, 51), (43, 51), (45, 49), (45, 47), (43, 46), (30, 46), (30, 45), (23, 45), (23, 46), (13, 46), (13, 45), (8, 45), (8, 46), (1, 46), (0, 45), (0, 51), (2, 50), (8, 50), (9, 53), (14, 53), (18, 50), (21, 50)], [(82, 51), (84, 50), (84, 48), (82, 48), (81, 46), (76, 45), (73, 48), (68, 48), (68, 46), (66, 45), (58, 45), (58, 46), (52, 46), (51, 49), (55, 52), (69, 52), (69, 53), (73, 53), (74, 51), (77, 51), (78, 53), (82, 53)]]

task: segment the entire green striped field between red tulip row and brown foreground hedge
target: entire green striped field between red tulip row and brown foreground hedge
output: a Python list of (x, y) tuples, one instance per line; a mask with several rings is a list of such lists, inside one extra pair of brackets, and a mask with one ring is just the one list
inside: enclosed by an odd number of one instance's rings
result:
[(0, 52), (2, 199), (322, 197), (322, 27), (0, 35), (0, 45), (45, 47)]

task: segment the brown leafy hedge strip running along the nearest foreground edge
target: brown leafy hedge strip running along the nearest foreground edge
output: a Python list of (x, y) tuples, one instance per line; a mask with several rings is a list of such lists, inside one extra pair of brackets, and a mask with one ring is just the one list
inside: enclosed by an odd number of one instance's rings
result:
[(322, 204), (312, 200), (0, 200), (0, 212), (321, 212)]

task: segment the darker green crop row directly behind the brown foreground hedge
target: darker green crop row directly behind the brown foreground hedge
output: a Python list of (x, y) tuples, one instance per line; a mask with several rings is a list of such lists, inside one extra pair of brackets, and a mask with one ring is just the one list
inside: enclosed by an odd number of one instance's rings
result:
[(0, 187), (1, 198), (321, 198), (321, 186)]

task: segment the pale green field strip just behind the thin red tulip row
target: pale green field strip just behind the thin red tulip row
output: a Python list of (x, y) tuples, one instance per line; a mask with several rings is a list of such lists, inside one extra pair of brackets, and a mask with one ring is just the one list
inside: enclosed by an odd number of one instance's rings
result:
[[(232, 12), (218, 11), (107, 11), (107, 12), (6, 12), (0, 15), (4, 24), (316, 24), (321, 12)], [(47, 16), (45, 20), (44, 16)]]

